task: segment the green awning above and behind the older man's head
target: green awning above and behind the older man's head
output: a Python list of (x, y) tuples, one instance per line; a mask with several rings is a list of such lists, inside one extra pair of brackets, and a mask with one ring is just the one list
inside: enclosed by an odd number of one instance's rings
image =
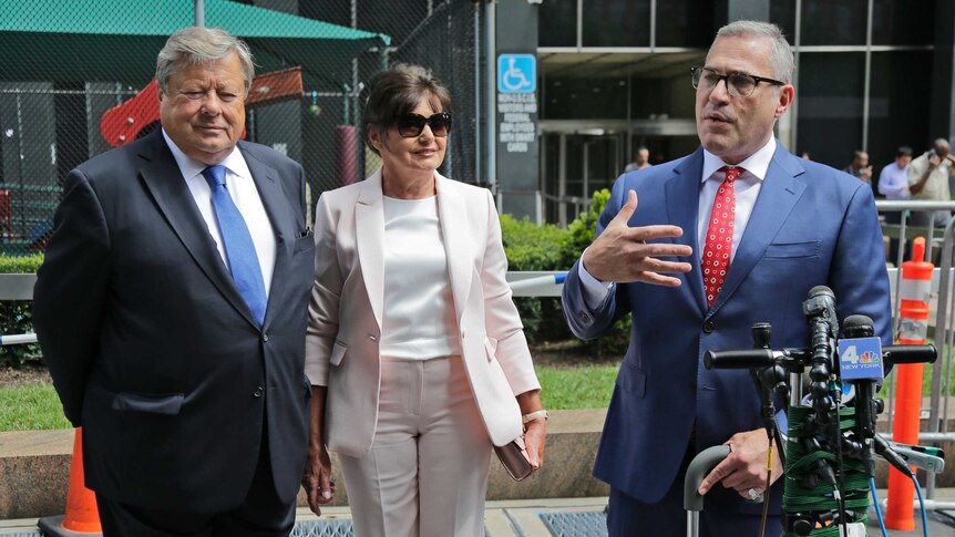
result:
[[(121, 82), (153, 76), (170, 34), (194, 22), (192, 0), (0, 0), (0, 80)], [(352, 60), (390, 38), (226, 0), (205, 23), (246, 40), (257, 72), (299, 65), (306, 87), (340, 90)]]

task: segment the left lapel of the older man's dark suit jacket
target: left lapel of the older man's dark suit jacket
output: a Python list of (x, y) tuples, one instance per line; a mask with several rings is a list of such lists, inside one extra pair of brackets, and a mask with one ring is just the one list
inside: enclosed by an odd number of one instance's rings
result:
[(141, 156), (147, 163), (140, 168), (150, 194), (155, 199), (160, 211), (168, 221), (186, 250), (195, 259), (199, 269), (212, 280), (213, 285), (246, 318), (258, 328), (245, 300), (239, 295), (219, 257), (215, 240), (209, 235), (209, 228), (196, 207), (196, 202), (189, 192), (176, 159), (166, 146), (161, 130), (156, 130), (150, 144), (143, 145)]

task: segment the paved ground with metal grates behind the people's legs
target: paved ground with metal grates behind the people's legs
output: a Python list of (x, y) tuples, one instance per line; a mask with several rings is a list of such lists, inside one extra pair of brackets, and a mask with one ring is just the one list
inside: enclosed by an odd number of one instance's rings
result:
[[(885, 497), (882, 490), (881, 497)], [(955, 489), (941, 489), (939, 502), (955, 500)], [(606, 536), (604, 506), (607, 498), (524, 499), (489, 502), (485, 512), (487, 537), (603, 537)], [(869, 535), (881, 535), (872, 516)], [(928, 523), (932, 537), (955, 537), (955, 518), (935, 515)], [(920, 537), (922, 525), (916, 512), (916, 530), (894, 531), (892, 537)], [(346, 537), (351, 533), (351, 514), (347, 507), (324, 509), (321, 518), (308, 509), (299, 509), (297, 529), (292, 537)], [(2, 537), (33, 537), (40, 535), (37, 520), (0, 520)], [(664, 536), (666, 537), (666, 536)]]

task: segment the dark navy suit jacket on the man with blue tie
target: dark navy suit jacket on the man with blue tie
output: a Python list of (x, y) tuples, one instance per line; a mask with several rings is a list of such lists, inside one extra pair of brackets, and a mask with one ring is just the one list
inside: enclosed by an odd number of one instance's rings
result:
[(33, 321), (86, 484), (124, 504), (223, 512), (245, 499), (268, 433), (285, 502), (305, 465), (305, 329), (315, 244), (301, 166), (238, 145), (275, 230), (258, 327), (162, 132), (66, 177)]

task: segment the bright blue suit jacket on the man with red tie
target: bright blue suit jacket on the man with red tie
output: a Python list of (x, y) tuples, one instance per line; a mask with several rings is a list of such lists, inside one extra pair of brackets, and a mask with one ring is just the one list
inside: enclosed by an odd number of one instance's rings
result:
[(639, 206), (629, 225), (679, 226), (682, 237), (661, 240), (694, 248), (691, 259), (682, 259), (692, 270), (679, 275), (679, 288), (618, 285), (592, 310), (582, 295), (579, 260), (564, 285), (564, 312), (579, 338), (597, 338), (615, 320), (633, 314), (594, 475), (646, 503), (658, 502), (672, 484), (695, 423), (697, 451), (763, 426), (749, 373), (707, 371), (705, 351), (751, 348), (756, 322), (772, 324), (773, 348), (808, 345), (802, 302), (820, 285), (835, 293), (840, 319), (866, 314), (884, 343), (891, 340), (889, 278), (872, 188), (797, 158), (781, 144), (726, 282), (707, 308), (697, 251), (702, 163), (698, 148), (624, 174), (597, 223), (599, 235), (626, 203), (627, 192), (636, 190)]

